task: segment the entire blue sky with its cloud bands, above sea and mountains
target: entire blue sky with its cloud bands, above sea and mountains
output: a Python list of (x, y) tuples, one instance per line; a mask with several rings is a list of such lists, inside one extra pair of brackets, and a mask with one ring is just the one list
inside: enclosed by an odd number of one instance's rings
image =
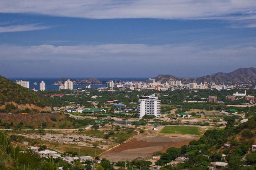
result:
[(5, 77), (199, 77), (256, 65), (253, 0), (3, 0)]

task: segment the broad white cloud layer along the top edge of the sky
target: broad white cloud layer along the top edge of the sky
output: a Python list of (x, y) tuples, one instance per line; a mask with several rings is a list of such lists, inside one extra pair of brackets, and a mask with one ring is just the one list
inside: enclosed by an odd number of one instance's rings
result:
[(94, 19), (225, 18), (235, 13), (248, 17), (255, 14), (255, 9), (255, 0), (2, 0), (0, 5), (2, 13), (37, 13)]

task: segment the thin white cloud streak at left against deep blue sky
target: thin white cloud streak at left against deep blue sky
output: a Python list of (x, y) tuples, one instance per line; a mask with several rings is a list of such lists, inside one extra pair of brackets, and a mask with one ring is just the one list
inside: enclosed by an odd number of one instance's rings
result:
[(49, 28), (51, 28), (51, 26), (40, 26), (38, 24), (0, 26), (0, 33), (43, 30)]

